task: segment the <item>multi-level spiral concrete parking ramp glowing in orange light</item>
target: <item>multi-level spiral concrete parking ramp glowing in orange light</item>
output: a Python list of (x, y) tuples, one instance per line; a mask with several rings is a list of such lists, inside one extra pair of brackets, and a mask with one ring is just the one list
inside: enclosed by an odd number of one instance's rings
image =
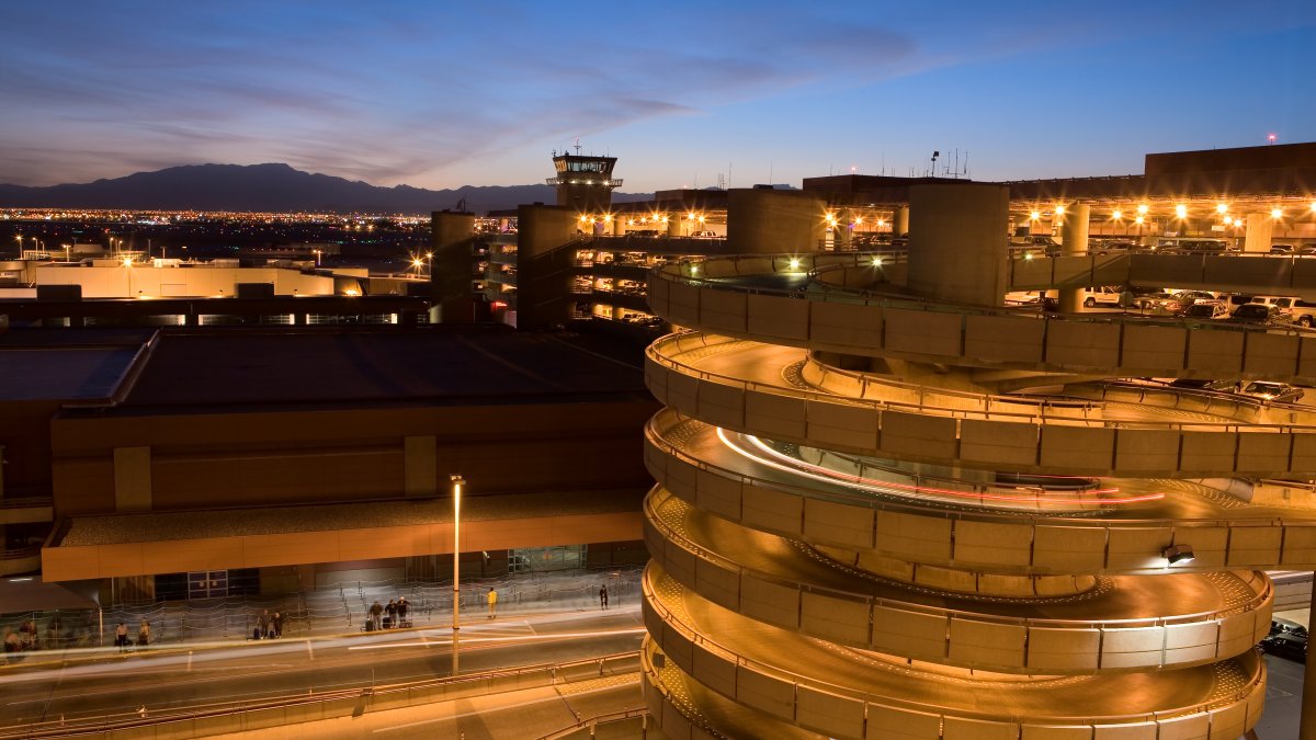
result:
[[(1316, 337), (900, 295), (890, 255), (650, 277), (645, 693), (674, 737), (1229, 739), (1316, 568)], [(1192, 558), (1170, 554), (1191, 552)]]

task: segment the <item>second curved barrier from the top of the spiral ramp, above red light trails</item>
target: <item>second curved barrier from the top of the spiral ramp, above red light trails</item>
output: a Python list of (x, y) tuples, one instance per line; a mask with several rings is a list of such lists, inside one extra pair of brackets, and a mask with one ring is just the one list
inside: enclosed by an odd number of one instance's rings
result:
[[(1088, 350), (1091, 346), (1083, 352)], [(1026, 415), (962, 419), (958, 412), (857, 404), (787, 387), (746, 387), (733, 378), (684, 367), (674, 357), (680, 352), (659, 342), (645, 363), (649, 390), (666, 406), (719, 427), (837, 452), (1065, 475), (1316, 475), (1316, 427), (1145, 429), (1141, 423), (1140, 428), (1101, 421), (1041, 424), (1026, 421)], [(1208, 431), (1199, 431), (1203, 427)]]

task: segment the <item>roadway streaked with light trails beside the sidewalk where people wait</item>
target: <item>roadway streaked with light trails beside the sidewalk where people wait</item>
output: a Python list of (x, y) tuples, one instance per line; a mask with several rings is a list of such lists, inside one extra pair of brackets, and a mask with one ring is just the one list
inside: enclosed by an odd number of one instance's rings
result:
[[(567, 662), (636, 650), (638, 604), (603, 611), (471, 615), (461, 631), (461, 672)], [(36, 657), (36, 656), (34, 656)], [(0, 668), (4, 729), (76, 718), (147, 715), (234, 700), (307, 695), (449, 675), (451, 629), (215, 643), (162, 650), (91, 650), (76, 658)]]

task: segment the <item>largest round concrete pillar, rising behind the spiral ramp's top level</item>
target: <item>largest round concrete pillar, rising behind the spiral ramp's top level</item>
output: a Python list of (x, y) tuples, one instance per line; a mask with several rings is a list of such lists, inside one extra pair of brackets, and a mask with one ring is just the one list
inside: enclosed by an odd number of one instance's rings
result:
[(933, 299), (1001, 305), (1009, 188), (925, 184), (909, 188), (908, 286)]

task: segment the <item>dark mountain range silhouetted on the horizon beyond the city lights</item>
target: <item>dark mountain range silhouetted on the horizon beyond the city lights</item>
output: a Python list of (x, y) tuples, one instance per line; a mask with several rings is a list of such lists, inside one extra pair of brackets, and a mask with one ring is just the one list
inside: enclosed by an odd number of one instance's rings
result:
[[(615, 203), (653, 194), (613, 192)], [(555, 203), (553, 186), (462, 186), (425, 190), (379, 187), (303, 172), (288, 165), (188, 165), (83, 184), (0, 184), (0, 208), (88, 208), (126, 211), (246, 211), (308, 213), (428, 213), (457, 208), (483, 213), (522, 203)]]

